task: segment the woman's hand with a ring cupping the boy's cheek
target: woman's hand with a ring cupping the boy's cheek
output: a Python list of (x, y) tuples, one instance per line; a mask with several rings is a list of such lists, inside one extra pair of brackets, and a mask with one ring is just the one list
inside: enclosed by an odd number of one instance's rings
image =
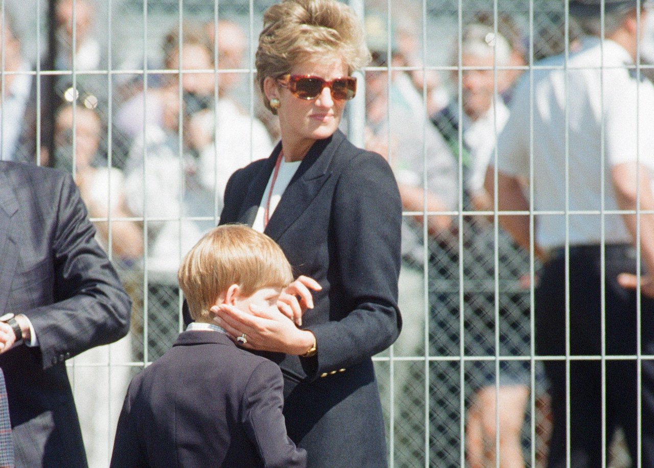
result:
[(283, 352), (300, 356), (313, 346), (315, 337), (308, 330), (295, 326), (290, 318), (282, 313), (267, 312), (250, 304), (250, 312), (243, 312), (233, 305), (213, 306), (215, 322), (230, 335), (232, 340), (245, 333), (246, 343), (239, 346), (260, 351)]

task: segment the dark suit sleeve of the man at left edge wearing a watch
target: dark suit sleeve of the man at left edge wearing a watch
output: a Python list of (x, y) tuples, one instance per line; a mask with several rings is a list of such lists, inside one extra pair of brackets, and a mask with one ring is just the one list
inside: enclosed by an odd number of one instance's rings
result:
[(54, 303), (24, 310), (43, 356), (44, 369), (94, 346), (112, 343), (129, 329), (131, 301), (107, 255), (95, 241), (95, 227), (69, 175), (53, 192), (52, 233)]

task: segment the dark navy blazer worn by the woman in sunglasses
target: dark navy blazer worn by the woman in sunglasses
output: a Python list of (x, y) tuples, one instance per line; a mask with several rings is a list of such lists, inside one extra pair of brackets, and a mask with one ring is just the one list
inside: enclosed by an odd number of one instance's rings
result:
[[(252, 226), (272, 173), (270, 158), (235, 172), (220, 224)], [(402, 204), (379, 154), (360, 150), (340, 131), (317, 141), (283, 194), (266, 231), (296, 275), (322, 285), (303, 327), (318, 353), (267, 353), (284, 375), (288, 435), (310, 467), (386, 465), (386, 442), (371, 356), (398, 337)]]

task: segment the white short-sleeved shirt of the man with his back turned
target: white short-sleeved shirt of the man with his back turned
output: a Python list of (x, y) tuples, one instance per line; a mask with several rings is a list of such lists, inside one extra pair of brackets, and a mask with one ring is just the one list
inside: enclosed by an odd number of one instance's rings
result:
[[(602, 48), (604, 67), (600, 68)], [(530, 74), (523, 76), (513, 97), (509, 121), (498, 139), (497, 166), (502, 173), (528, 178), (533, 161), (536, 210), (565, 210), (567, 198), (571, 211), (598, 211), (602, 187), (604, 209), (617, 210), (611, 167), (640, 161), (644, 167), (654, 169), (654, 86), (645, 79), (636, 79), (635, 70), (627, 67), (632, 63), (619, 44), (586, 37), (581, 50), (568, 59), (567, 73), (562, 69), (564, 57), (556, 56), (538, 63), (560, 68), (534, 70), (533, 88)], [(530, 128), (534, 134), (533, 158), (529, 152)], [(604, 221), (607, 243), (630, 242), (621, 216), (606, 215)], [(563, 245), (565, 222), (564, 215), (538, 216), (538, 243), (544, 248)], [(602, 240), (599, 214), (570, 214), (569, 222), (570, 244), (596, 244)]]

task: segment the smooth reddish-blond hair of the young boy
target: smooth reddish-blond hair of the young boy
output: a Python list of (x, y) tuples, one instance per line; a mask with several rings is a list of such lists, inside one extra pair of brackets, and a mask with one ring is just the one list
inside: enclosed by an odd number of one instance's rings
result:
[(193, 320), (209, 322), (209, 309), (232, 284), (248, 297), (261, 288), (283, 288), (293, 273), (279, 245), (254, 229), (226, 224), (211, 229), (188, 251), (177, 273)]

